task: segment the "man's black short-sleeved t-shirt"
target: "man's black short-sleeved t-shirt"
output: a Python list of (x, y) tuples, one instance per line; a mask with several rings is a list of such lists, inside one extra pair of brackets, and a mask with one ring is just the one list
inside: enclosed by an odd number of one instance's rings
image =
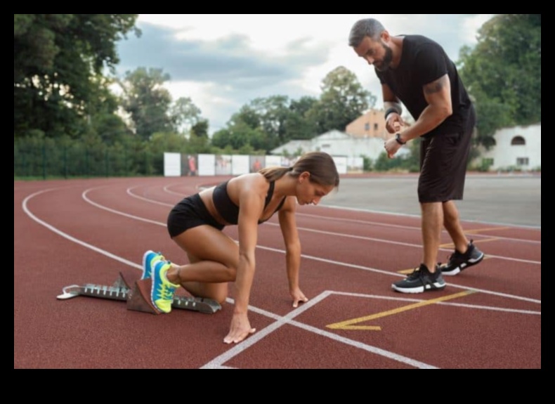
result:
[[(374, 69), (375, 70), (375, 69)], [(453, 113), (435, 129), (424, 135), (428, 138), (436, 133), (455, 133), (464, 130), (471, 101), (452, 62), (443, 48), (422, 35), (405, 35), (403, 53), (398, 67), (385, 72), (375, 70), (381, 84), (387, 84), (399, 100), (417, 120), (428, 105), (422, 86), (448, 74), (451, 82)]]

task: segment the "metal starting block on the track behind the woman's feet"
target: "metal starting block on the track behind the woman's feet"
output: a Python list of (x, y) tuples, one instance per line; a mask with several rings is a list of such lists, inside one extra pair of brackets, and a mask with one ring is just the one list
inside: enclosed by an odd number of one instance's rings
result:
[[(151, 314), (161, 314), (150, 301), (150, 287), (152, 280), (141, 279), (134, 282), (133, 288), (129, 287), (122, 273), (112, 286), (93, 285), (70, 285), (62, 289), (58, 300), (72, 299), (77, 296), (98, 297), (100, 299), (119, 300), (127, 302), (127, 310), (143, 311)], [(220, 304), (212, 299), (202, 297), (174, 296), (171, 303), (172, 308), (183, 308), (185, 310), (199, 311), (200, 313), (213, 314), (221, 309)]]

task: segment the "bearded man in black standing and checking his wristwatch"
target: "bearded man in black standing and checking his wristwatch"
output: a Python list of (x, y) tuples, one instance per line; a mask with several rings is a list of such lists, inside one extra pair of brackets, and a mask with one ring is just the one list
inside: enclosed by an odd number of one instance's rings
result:
[[(443, 48), (421, 35), (393, 37), (373, 18), (355, 22), (349, 46), (374, 66), (384, 97), (386, 129), (396, 133), (384, 143), (393, 157), (407, 141), (421, 137), (418, 199), (422, 211), (422, 263), (406, 279), (391, 285), (397, 292), (421, 293), (445, 288), (443, 275), (456, 275), (483, 259), (464, 235), (454, 200), (462, 200), (474, 106), (455, 64)], [(403, 131), (402, 104), (415, 123)], [(442, 225), (455, 252), (438, 266)]]

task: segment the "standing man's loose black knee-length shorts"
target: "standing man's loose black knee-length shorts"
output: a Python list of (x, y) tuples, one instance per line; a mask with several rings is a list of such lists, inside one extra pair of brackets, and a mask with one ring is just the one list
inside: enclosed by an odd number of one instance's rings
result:
[(472, 132), (476, 124), (474, 106), (469, 110), (464, 131), (437, 133), (420, 144), (419, 202), (462, 200)]

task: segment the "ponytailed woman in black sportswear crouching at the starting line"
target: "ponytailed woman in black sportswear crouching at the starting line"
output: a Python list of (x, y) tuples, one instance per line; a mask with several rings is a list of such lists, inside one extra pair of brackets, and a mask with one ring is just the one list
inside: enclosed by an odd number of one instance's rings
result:
[[(190, 263), (178, 266), (161, 254), (152, 251), (144, 254), (143, 278), (152, 274), (152, 304), (162, 313), (169, 313), (174, 292), (180, 286), (194, 297), (223, 304), (228, 296), (228, 282), (235, 282), (233, 318), (223, 341), (230, 344), (247, 338), (255, 332), (247, 317), (247, 306), (258, 225), (275, 212), (285, 240), (293, 307), (308, 301), (299, 288), (301, 244), (294, 216), (296, 204), (318, 204), (338, 186), (339, 174), (332, 157), (325, 152), (308, 152), (292, 167), (266, 167), (185, 197), (171, 209), (168, 231)], [(235, 224), (238, 245), (221, 231)]]

